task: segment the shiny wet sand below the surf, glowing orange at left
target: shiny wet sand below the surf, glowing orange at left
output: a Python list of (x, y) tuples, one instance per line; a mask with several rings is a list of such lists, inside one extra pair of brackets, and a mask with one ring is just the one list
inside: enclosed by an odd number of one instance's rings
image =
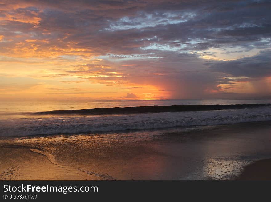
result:
[(2, 137), (0, 180), (233, 180), (245, 167), (243, 180), (270, 166), (248, 166), (271, 158), (270, 134), (271, 121), (263, 121)]

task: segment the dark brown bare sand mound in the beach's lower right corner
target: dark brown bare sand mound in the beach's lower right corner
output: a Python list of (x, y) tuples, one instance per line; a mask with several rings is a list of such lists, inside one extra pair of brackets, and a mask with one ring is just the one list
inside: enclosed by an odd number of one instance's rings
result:
[(258, 160), (244, 167), (237, 181), (269, 181), (271, 180), (271, 159)]

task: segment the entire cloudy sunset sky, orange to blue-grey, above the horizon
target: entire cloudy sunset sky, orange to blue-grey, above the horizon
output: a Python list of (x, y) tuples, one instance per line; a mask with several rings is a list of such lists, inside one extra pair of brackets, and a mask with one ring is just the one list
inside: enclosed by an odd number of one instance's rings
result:
[(271, 98), (271, 2), (1, 0), (0, 99)]

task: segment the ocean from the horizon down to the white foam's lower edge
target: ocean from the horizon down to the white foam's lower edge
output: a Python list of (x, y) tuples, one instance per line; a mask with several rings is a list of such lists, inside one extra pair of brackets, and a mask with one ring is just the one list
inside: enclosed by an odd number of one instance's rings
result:
[[(271, 120), (271, 100), (22, 100), (0, 101), (0, 136), (52, 135), (60, 133), (110, 132), (184, 126), (220, 125)], [(242, 105), (233, 109), (160, 113), (127, 112), (126, 107), (172, 105)], [(76, 113), (80, 109), (114, 108), (114, 113)], [(156, 109), (160, 109), (156, 107)], [(57, 110), (56, 112), (53, 112)], [(108, 111), (108, 110), (107, 110)], [(154, 110), (156, 112), (157, 110)], [(47, 112), (47, 113), (45, 113)], [(147, 111), (148, 112), (148, 111)], [(153, 112), (153, 110), (149, 110)], [(158, 110), (159, 112), (159, 110)]]

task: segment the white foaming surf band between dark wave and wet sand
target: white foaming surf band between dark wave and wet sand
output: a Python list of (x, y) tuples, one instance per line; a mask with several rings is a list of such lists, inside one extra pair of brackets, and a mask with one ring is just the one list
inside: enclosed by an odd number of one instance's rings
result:
[(271, 120), (271, 107), (125, 115), (31, 117), (0, 120), (0, 136), (108, 132)]

